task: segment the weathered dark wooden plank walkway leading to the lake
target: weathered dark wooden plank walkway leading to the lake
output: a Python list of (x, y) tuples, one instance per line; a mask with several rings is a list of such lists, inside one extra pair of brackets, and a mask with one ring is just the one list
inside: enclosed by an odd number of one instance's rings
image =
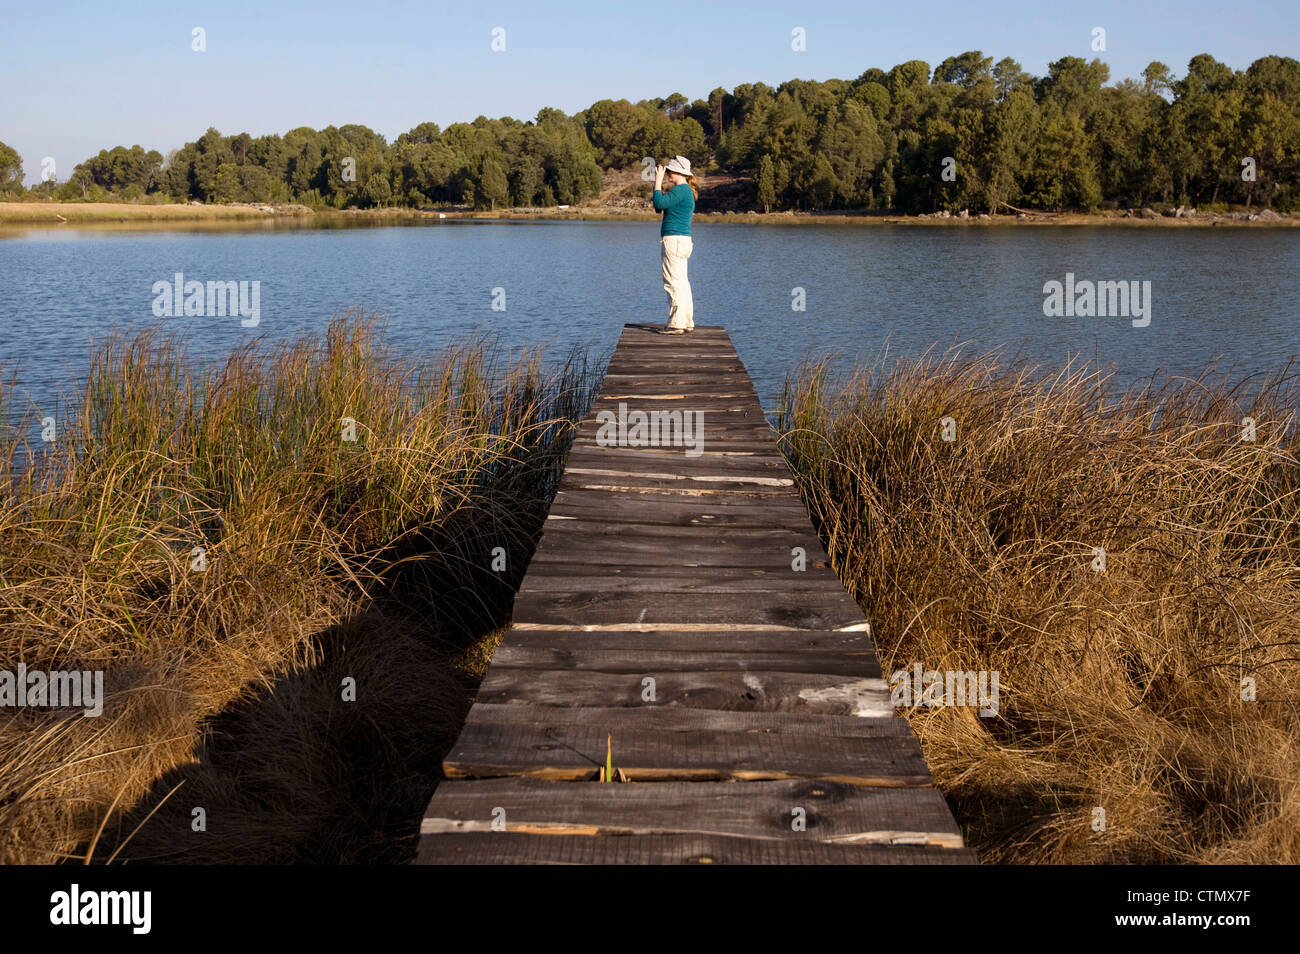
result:
[(416, 863), (975, 862), (720, 328), (624, 328), (443, 768)]

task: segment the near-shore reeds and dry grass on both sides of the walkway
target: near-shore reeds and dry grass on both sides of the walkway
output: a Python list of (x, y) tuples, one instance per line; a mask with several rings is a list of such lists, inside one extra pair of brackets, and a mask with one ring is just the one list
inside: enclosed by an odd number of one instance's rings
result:
[[(594, 372), (411, 361), (360, 313), (261, 347), (114, 339), (55, 447), (0, 432), (0, 652), (108, 697), (0, 711), (0, 862), (413, 853)], [(1001, 673), (994, 719), (904, 710), (984, 860), (1300, 860), (1300, 386), (1249, 383), (790, 373), (780, 443), (887, 677)]]

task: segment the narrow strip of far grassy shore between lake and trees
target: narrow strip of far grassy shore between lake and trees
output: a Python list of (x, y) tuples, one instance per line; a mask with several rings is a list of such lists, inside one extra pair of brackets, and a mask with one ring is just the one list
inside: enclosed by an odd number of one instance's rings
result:
[[(264, 211), (269, 209), (269, 211)], [(195, 205), (195, 204), (133, 204), (133, 203), (42, 203), (18, 201), (0, 203), (0, 227), (5, 226), (98, 226), (116, 224), (147, 225), (222, 225), (248, 222), (276, 224), (322, 224), (348, 221), (364, 222), (417, 222), (417, 221), (585, 221), (585, 222), (658, 222), (659, 214), (651, 211), (628, 209), (612, 205), (575, 207), (569, 209), (500, 209), (498, 212), (454, 209), (446, 212), (419, 209), (318, 209), (303, 205), (256, 207), (256, 205)], [(1248, 221), (1217, 214), (1196, 214), (1191, 217), (1158, 216), (1141, 218), (1118, 212), (1063, 212), (1035, 213), (1026, 217), (998, 214), (979, 218), (952, 216), (901, 216), (876, 212), (807, 213), (807, 212), (701, 212), (696, 221), (744, 225), (842, 225), (842, 226), (944, 226), (944, 227), (1005, 227), (1005, 226), (1115, 226), (1115, 227), (1296, 227), (1300, 214), (1278, 216), (1277, 218)]]

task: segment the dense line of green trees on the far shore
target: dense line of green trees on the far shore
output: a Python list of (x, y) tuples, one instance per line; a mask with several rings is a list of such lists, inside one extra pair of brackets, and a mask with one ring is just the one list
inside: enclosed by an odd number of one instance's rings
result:
[[(283, 135), (209, 129), (168, 156), (117, 146), (27, 195), (312, 207), (572, 204), (603, 169), (685, 155), (749, 182), (754, 207), (996, 212), (1244, 203), (1300, 208), (1300, 61), (1234, 70), (1202, 53), (1176, 78), (1152, 62), (1108, 84), (1067, 56), (1034, 77), (1008, 57), (920, 60), (857, 79), (746, 83), (708, 99), (599, 100), (567, 116)], [(0, 143), (0, 192), (23, 194)]]

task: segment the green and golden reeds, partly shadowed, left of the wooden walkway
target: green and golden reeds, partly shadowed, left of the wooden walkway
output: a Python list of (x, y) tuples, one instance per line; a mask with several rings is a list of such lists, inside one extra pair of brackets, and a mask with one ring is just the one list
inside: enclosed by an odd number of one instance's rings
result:
[(412, 851), (592, 385), (482, 338), (407, 359), (359, 312), (207, 369), (104, 344), (55, 443), (0, 434), (4, 668), (107, 695), (0, 710), (0, 860)]

